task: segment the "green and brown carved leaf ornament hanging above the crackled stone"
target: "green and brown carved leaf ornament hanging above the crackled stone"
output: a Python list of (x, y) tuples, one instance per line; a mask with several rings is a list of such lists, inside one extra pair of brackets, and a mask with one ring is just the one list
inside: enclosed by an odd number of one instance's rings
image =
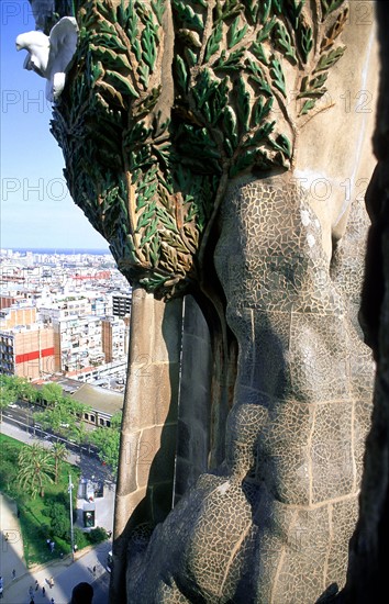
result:
[(52, 122), (69, 190), (131, 282), (181, 294), (227, 181), (290, 168), (297, 127), (345, 51), (347, 2), (75, 4), (79, 44)]

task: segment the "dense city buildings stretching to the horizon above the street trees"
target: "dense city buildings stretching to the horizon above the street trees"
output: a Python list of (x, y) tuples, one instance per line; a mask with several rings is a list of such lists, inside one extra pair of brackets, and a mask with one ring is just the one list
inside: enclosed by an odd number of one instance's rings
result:
[(2, 249), (0, 262), (0, 371), (123, 391), (131, 288), (112, 256)]

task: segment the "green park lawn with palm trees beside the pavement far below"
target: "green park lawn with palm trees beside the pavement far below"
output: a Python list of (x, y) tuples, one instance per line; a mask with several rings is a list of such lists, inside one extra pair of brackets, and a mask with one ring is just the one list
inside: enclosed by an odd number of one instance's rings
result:
[[(0, 491), (18, 506), (27, 568), (71, 552), (69, 474), (74, 484), (73, 519), (76, 522), (80, 471), (65, 461), (66, 457), (66, 449), (30, 446), (0, 435)], [(99, 527), (89, 533), (77, 526), (74, 528), (78, 550), (105, 538), (107, 533)]]

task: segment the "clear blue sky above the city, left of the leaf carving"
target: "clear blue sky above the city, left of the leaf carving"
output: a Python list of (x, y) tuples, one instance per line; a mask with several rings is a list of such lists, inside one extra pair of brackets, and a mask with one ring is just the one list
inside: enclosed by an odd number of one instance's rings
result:
[(30, 2), (1, 0), (0, 11), (0, 247), (108, 248), (67, 192), (46, 80), (15, 49), (18, 34), (35, 29)]

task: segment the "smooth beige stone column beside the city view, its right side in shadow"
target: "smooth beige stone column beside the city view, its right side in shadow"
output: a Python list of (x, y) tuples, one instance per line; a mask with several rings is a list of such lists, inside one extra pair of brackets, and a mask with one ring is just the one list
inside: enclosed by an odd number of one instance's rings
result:
[(129, 539), (142, 547), (173, 506), (182, 301), (133, 290), (115, 501), (111, 597), (123, 597)]

